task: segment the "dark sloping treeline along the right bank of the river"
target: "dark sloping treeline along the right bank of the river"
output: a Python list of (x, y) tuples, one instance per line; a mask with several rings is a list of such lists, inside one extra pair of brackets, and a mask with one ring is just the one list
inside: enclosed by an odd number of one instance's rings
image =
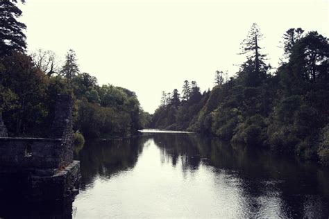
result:
[(283, 35), (284, 55), (274, 73), (261, 40), (253, 24), (242, 42), (246, 62), (235, 77), (227, 79), (217, 71), (216, 86), (199, 92), (193, 104), (187, 104), (189, 96), (175, 100), (176, 91), (167, 101), (162, 95), (153, 127), (203, 132), (233, 144), (269, 147), (328, 163), (328, 39), (316, 31), (290, 28)]

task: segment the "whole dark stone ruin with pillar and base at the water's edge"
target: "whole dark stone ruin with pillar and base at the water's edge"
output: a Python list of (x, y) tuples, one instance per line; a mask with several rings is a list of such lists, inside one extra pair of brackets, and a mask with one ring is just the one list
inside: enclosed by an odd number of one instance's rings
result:
[(0, 114), (0, 195), (54, 200), (78, 191), (80, 163), (73, 158), (71, 96), (58, 95), (50, 138), (8, 137)]

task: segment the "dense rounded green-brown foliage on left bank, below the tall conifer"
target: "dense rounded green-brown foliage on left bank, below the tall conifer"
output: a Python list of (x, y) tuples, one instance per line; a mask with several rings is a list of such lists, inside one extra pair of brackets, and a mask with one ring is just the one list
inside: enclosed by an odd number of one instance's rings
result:
[[(66, 67), (67, 63), (62, 69)], [(85, 137), (132, 134), (146, 123), (146, 113), (133, 91), (99, 86), (89, 73), (78, 71), (49, 76), (24, 53), (15, 52), (1, 60), (0, 88), (0, 107), (10, 136), (46, 135), (57, 94), (74, 96), (74, 130)]]

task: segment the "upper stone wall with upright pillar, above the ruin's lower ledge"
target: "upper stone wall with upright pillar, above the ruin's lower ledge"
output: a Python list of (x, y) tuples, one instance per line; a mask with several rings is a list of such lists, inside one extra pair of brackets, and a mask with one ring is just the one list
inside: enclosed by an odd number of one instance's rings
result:
[[(1, 116), (0, 116), (1, 118)], [(2, 119), (0, 120), (0, 128)], [(6, 128), (5, 128), (6, 130)], [(0, 137), (0, 170), (9, 168), (56, 168), (73, 161), (72, 98), (58, 95), (51, 138)], [(49, 173), (50, 174), (50, 173)]]

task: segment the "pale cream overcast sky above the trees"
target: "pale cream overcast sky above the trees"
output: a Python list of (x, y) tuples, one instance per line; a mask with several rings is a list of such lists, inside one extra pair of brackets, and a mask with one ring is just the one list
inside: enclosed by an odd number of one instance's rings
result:
[(289, 28), (328, 37), (329, 0), (27, 0), (19, 8), (28, 51), (76, 51), (81, 72), (99, 85), (135, 91), (153, 113), (162, 91), (181, 91), (195, 80), (212, 89), (215, 71), (234, 76), (246, 60), (240, 43), (253, 23), (272, 67), (282, 58)]

